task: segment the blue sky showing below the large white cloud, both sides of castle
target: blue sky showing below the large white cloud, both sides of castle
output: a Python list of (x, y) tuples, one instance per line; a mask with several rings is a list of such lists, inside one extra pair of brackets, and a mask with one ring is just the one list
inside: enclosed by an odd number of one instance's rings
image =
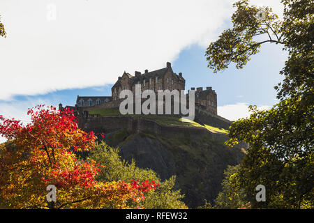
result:
[[(212, 86), (218, 94), (218, 110), (227, 105), (237, 104), (240, 104), (239, 107), (244, 104), (271, 107), (277, 102), (274, 86), (281, 82), (282, 77), (279, 75), (279, 71), (283, 68), (286, 58), (281, 47), (271, 44), (264, 45), (260, 54), (253, 56), (243, 69), (239, 70), (231, 65), (227, 70), (216, 74), (207, 68), (205, 50), (206, 47), (191, 45), (182, 50), (177, 59), (172, 61), (174, 72), (183, 73), (186, 79), (186, 89)], [(117, 69), (117, 76), (123, 72), (123, 68)], [(133, 73), (132, 70), (128, 72)], [(14, 105), (15, 102), (40, 102), (41, 100), (44, 103), (50, 102), (56, 107), (59, 103), (75, 105), (77, 95), (111, 95), (111, 87), (112, 84), (104, 84), (103, 86), (66, 89), (39, 95), (19, 95), (13, 97), (12, 102), (4, 100), (0, 100), (0, 102)], [(226, 115), (229, 116), (228, 118), (233, 117), (234, 112), (230, 111), (230, 114)], [(223, 114), (220, 115), (223, 116)]]

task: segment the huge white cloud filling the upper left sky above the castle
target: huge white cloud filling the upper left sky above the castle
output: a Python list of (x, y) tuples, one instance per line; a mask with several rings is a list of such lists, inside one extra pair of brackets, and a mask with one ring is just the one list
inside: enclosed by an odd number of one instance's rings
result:
[[(51, 4), (56, 20), (47, 20)], [(217, 38), (232, 10), (229, 0), (1, 0), (0, 100), (165, 67), (185, 47)]]

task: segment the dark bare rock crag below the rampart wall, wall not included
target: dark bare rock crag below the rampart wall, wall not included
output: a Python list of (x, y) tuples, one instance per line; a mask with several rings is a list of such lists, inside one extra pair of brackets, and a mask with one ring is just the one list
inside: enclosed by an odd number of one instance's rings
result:
[[(125, 131), (125, 130), (124, 130)], [(176, 139), (160, 137), (149, 132), (121, 134), (111, 133), (115, 141), (108, 144), (119, 146), (124, 160), (135, 160), (137, 167), (156, 171), (161, 179), (177, 176), (176, 190), (185, 194), (183, 201), (189, 208), (204, 204), (204, 199), (214, 201), (221, 190), (223, 171), (227, 165), (236, 165), (244, 157), (244, 149), (230, 148), (224, 140), (207, 137), (193, 140), (188, 134)]]

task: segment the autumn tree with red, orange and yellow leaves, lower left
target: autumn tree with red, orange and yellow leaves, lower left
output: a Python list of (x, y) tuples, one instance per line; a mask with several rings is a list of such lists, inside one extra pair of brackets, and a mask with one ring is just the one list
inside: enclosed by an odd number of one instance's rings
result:
[[(29, 109), (31, 123), (0, 116), (1, 208), (128, 208), (156, 189), (150, 181), (98, 181), (100, 164), (77, 160), (75, 151), (95, 146), (94, 132), (77, 128), (72, 111), (42, 105)], [(47, 203), (47, 185), (57, 187), (57, 202)]]

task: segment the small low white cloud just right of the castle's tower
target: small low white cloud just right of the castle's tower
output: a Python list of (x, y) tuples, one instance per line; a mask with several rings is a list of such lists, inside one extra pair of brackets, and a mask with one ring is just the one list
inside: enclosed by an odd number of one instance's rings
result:
[[(270, 109), (269, 105), (257, 106), (258, 109)], [(218, 106), (218, 115), (229, 119), (230, 121), (236, 121), (239, 118), (246, 118), (250, 116), (251, 112), (248, 111), (248, 103), (238, 102), (232, 105)]]

